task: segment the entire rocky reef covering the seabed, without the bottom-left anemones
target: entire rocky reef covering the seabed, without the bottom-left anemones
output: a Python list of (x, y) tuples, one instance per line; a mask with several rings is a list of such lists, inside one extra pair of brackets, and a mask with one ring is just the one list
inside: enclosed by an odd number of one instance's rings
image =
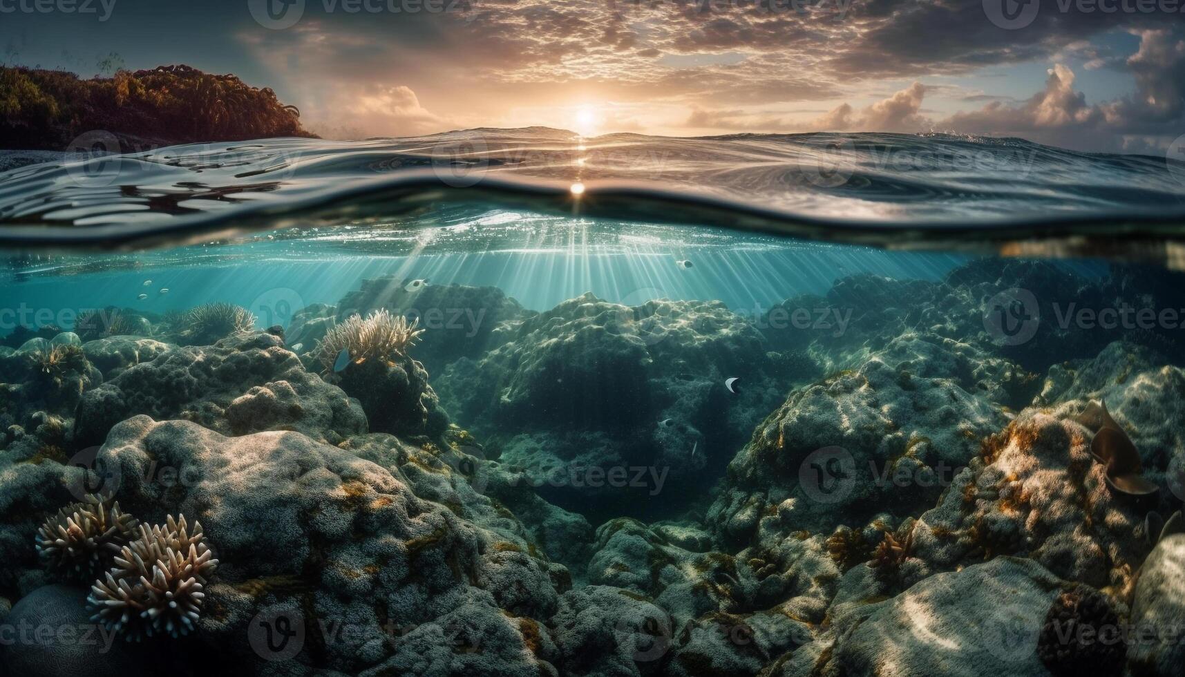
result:
[[(941, 282), (848, 276), (781, 306), (851, 308), (843, 336), (718, 302), (585, 294), (533, 312), (398, 279), (297, 312), (287, 338), (185, 345), (201, 332), (130, 312), (118, 332), (26, 332), (0, 347), (0, 622), (82, 613), (34, 534), (88, 492), (145, 523), (200, 522), (219, 566), (185, 638), (0, 660), (21, 675), (1068, 673), (1050, 644), (1068, 614), (1185, 622), (1180, 536), (1149, 557), (1148, 534), (1151, 511), (1180, 506), (1185, 353), (1162, 332), (1072, 326), (1001, 346), (982, 317), (1004, 280), (1149, 307), (1180, 288), (1125, 275), (975, 262)], [(367, 378), (315, 358), (340, 319), (424, 307), (417, 293), (487, 324), (429, 328)], [(1159, 493), (1108, 486), (1078, 421), (1094, 401)], [(661, 472), (634, 485), (613, 468)], [(1180, 653), (1095, 650), (1098, 670), (1130, 658), (1148, 675)]]

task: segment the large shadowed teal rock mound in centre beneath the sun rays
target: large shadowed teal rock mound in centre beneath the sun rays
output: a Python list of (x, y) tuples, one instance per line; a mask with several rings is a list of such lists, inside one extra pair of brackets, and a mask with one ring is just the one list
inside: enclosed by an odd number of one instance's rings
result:
[[(456, 360), (434, 384), (454, 420), (552, 503), (590, 515), (628, 488), (636, 500), (619, 506), (661, 502), (673, 515), (777, 401), (773, 371), (761, 334), (720, 302), (629, 307), (584, 294), (523, 320), (506, 343)], [(741, 395), (724, 388), (730, 377), (744, 379)], [(604, 477), (638, 468), (652, 479), (610, 487)], [(674, 485), (681, 491), (656, 498)]]

